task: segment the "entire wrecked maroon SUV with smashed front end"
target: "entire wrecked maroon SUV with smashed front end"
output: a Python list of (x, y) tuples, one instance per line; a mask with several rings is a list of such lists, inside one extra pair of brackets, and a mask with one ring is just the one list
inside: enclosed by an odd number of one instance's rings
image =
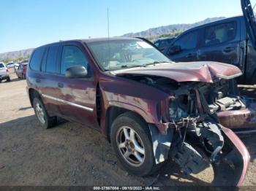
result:
[(173, 63), (143, 39), (111, 38), (38, 47), (26, 77), (44, 128), (58, 116), (101, 131), (130, 174), (152, 174), (170, 158), (186, 174), (211, 166), (213, 184), (241, 185), (249, 153), (218, 117), (241, 122), (247, 112), (236, 96), (240, 75), (224, 63)]

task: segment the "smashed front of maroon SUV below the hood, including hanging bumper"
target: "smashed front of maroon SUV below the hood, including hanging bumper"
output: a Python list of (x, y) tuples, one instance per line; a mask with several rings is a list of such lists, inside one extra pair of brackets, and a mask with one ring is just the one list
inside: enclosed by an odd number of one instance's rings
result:
[[(184, 174), (199, 174), (211, 165), (212, 184), (241, 186), (249, 152), (232, 130), (220, 125), (217, 115), (246, 108), (244, 101), (234, 96), (232, 83), (219, 80), (213, 84), (186, 82), (172, 86), (170, 98), (159, 106), (166, 135), (150, 125), (156, 163), (166, 160), (168, 153)], [(166, 84), (158, 84), (158, 88), (167, 90)]]

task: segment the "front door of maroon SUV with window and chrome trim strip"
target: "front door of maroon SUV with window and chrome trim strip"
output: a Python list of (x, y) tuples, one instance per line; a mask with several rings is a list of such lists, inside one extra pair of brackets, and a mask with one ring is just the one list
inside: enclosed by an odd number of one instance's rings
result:
[[(84, 66), (89, 75), (83, 79), (65, 77), (71, 66)], [(69, 120), (80, 122), (89, 127), (97, 123), (96, 88), (94, 75), (86, 55), (86, 50), (79, 42), (65, 42), (61, 47), (60, 77), (58, 78), (58, 95), (61, 101), (61, 115)]]

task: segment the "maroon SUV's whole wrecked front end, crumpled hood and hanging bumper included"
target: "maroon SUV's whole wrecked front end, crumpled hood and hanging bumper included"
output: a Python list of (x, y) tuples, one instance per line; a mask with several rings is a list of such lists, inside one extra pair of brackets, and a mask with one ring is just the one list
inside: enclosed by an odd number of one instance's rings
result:
[[(241, 186), (249, 152), (232, 130), (222, 126), (227, 112), (246, 111), (233, 79), (240, 74), (224, 63), (173, 63), (116, 75), (168, 95), (157, 104), (156, 120), (149, 125), (155, 163), (170, 157), (184, 174), (199, 174), (211, 165), (212, 184)], [(224, 118), (219, 117), (224, 112)]]

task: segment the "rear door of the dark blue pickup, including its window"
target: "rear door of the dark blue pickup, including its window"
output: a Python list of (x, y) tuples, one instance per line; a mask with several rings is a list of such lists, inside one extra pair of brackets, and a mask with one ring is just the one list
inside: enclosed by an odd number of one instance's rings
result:
[(198, 50), (199, 61), (230, 63), (244, 71), (240, 25), (238, 17), (234, 17), (206, 26)]

